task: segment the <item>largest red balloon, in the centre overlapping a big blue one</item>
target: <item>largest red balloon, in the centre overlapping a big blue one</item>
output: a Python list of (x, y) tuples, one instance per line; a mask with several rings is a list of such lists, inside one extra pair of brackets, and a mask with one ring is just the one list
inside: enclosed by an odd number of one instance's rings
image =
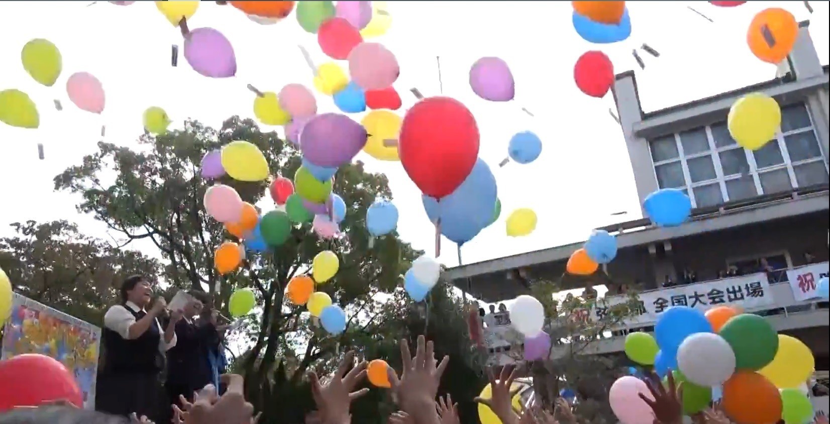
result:
[(461, 102), (430, 97), (403, 116), (398, 155), (422, 193), (447, 196), (470, 175), (478, 158), (476, 119)]

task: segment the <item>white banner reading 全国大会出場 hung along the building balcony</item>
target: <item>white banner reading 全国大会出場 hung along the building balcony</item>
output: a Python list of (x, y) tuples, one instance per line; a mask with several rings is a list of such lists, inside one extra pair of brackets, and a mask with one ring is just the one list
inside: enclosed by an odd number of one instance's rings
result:
[[(626, 319), (626, 324), (654, 323), (657, 316), (671, 306), (684, 305), (705, 311), (721, 305), (751, 310), (774, 304), (772, 293), (769, 291), (769, 280), (763, 272), (646, 291), (637, 297), (640, 304), (639, 314)], [(623, 296), (613, 296), (604, 303), (603, 300), (599, 300), (598, 305), (594, 305), (591, 310), (591, 319), (602, 319), (608, 312), (608, 306), (625, 301)]]

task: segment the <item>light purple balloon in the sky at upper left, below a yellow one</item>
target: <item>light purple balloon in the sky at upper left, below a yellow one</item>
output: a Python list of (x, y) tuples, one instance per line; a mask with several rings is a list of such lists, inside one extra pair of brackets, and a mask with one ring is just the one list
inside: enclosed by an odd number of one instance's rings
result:
[(211, 78), (237, 74), (237, 56), (231, 41), (213, 28), (197, 28), (184, 39), (184, 58), (193, 71)]

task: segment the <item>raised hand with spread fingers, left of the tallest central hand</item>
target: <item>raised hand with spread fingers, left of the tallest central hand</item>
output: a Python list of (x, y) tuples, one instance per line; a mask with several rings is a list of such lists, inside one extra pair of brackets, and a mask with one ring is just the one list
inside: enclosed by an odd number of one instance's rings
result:
[(349, 416), (351, 402), (369, 392), (368, 388), (352, 392), (354, 386), (366, 378), (366, 361), (349, 370), (349, 367), (353, 364), (354, 351), (346, 353), (346, 356), (340, 361), (337, 373), (334, 373), (334, 377), (325, 385), (320, 383), (320, 378), (317, 377), (314, 371), (308, 373), (311, 382), (311, 394), (314, 396), (317, 410), (325, 424), (349, 424), (351, 422)]

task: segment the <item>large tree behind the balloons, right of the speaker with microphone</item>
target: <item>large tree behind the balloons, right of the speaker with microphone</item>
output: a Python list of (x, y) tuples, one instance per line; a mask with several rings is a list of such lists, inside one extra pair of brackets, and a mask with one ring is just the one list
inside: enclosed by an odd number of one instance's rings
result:
[[(340, 225), (344, 237), (323, 241), (305, 224), (295, 228), (293, 238), (283, 246), (262, 255), (249, 253), (241, 271), (217, 275), (213, 251), (233, 237), (204, 211), (203, 196), (210, 183), (199, 175), (199, 163), (208, 152), (237, 139), (256, 144), (272, 175), (292, 177), (300, 167), (300, 154), (291, 144), (274, 132), (261, 132), (251, 119), (235, 116), (218, 130), (188, 120), (183, 130), (157, 137), (144, 134), (140, 149), (99, 143), (98, 151), (81, 165), (56, 176), (55, 188), (81, 194), (79, 210), (118, 231), (125, 243), (152, 241), (165, 261), (164, 280), (175, 287), (206, 291), (226, 315), (232, 291), (253, 288), (261, 314), (249, 317), (252, 346), (237, 367), (245, 373), (247, 397), (265, 412), (263, 422), (293, 422), (301, 418), (295, 413), (295, 389), (303, 384), (303, 374), (320, 358), (348, 344), (350, 332), (330, 337), (310, 325), (300, 316), (305, 308), (287, 305), (283, 290), (288, 281), (307, 270), (318, 252), (335, 251), (340, 270), (318, 290), (350, 311), (351, 329), (359, 324), (355, 317), (377, 313), (381, 305), (376, 295), (394, 290), (417, 252), (397, 234), (383, 236), (369, 248), (366, 210), (378, 198), (391, 199), (392, 193), (385, 176), (366, 173), (357, 162), (341, 167), (334, 180), (334, 192), (348, 207)], [(261, 199), (267, 186), (267, 182), (242, 183), (227, 177), (220, 182), (236, 188), (251, 204)]]

